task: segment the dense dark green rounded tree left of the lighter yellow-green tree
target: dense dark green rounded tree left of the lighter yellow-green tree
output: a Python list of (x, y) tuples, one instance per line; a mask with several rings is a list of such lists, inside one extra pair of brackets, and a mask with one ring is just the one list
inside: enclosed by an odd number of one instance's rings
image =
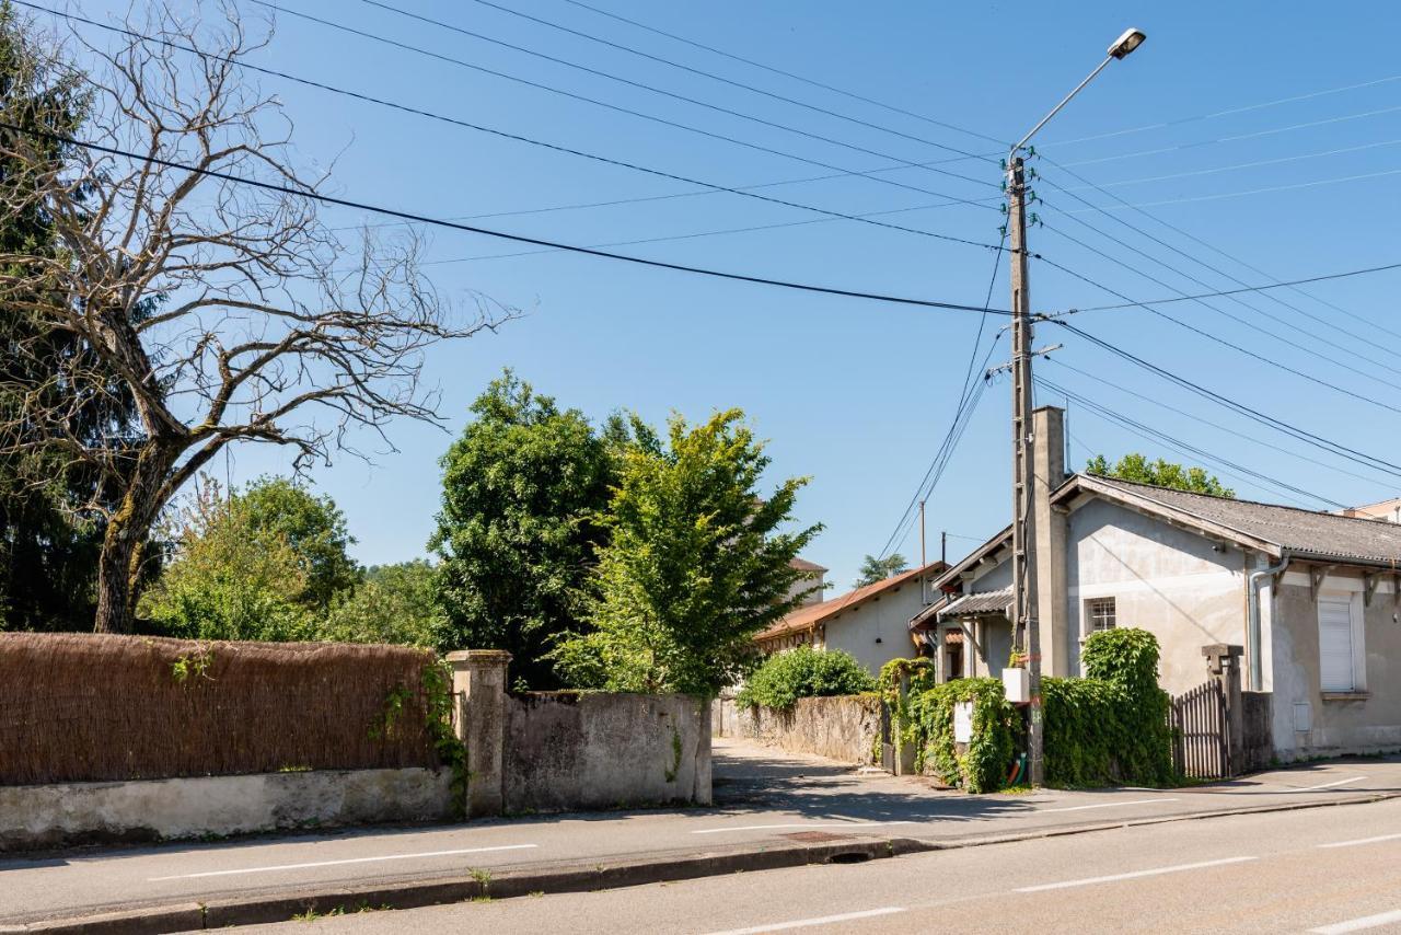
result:
[(510, 678), (558, 687), (545, 659), (584, 624), (595, 547), (626, 426), (597, 433), (507, 370), (478, 397), (474, 421), (443, 456), (434, 642), (506, 649)]

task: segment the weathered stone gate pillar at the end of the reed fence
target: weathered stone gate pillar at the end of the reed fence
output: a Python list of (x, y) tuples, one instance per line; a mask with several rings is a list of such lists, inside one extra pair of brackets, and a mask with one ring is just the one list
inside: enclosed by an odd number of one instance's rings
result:
[(447, 655), (458, 698), (457, 736), (467, 744), (467, 817), (506, 809), (504, 649), (467, 649)]

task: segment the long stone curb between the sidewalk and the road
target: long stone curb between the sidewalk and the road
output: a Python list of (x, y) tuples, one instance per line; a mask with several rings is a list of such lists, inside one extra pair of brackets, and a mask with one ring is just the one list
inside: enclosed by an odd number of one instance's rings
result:
[(170, 906), (59, 918), (28, 925), (0, 925), (0, 935), (167, 935), (206, 928), (286, 922), (294, 915), (315, 917), (350, 914), (374, 910), (420, 908), (465, 903), (475, 899), (514, 899), (546, 893), (584, 893), (593, 890), (644, 886), (677, 880), (724, 876), (757, 871), (776, 871), (817, 864), (864, 864), (873, 859), (960, 851), (993, 844), (1014, 844), (1038, 838), (1090, 834), (1115, 828), (1196, 821), (1238, 814), (1297, 812), (1344, 805), (1369, 805), (1401, 798), (1401, 792), (1384, 792), (1337, 800), (1310, 800), (1213, 809), (1187, 814), (1166, 814), (1118, 821), (1093, 821), (1051, 828), (1031, 828), (1007, 834), (989, 834), (954, 841), (925, 841), (919, 838), (862, 838), (841, 842), (783, 844), (762, 848), (706, 852), (667, 859), (616, 861), (588, 866), (565, 866), (541, 871), (503, 872), (500, 876), (467, 876), (366, 887), (307, 887), (290, 893), (219, 899), (205, 903), (182, 901)]

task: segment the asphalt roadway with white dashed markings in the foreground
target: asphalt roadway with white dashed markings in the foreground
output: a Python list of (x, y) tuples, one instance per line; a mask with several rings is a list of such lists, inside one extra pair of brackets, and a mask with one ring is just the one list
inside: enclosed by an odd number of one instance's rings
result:
[(1401, 800), (256, 931), (1401, 932)]

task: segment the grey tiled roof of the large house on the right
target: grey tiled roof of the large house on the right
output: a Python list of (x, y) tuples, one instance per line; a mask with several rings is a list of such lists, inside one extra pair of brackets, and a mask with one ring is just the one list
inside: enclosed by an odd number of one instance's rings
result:
[(1069, 492), (1076, 482), (1082, 489), (1103, 491), (1111, 499), (1118, 492), (1131, 499), (1187, 513), (1300, 558), (1401, 566), (1401, 526), (1395, 523), (1188, 493), (1104, 477), (1077, 475), (1058, 496)]

